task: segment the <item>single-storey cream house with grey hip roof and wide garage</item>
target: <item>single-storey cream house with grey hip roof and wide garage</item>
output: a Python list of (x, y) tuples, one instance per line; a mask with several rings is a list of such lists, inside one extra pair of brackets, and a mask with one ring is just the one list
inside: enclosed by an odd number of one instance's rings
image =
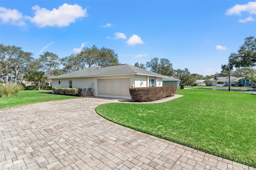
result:
[(92, 95), (131, 99), (129, 87), (160, 87), (164, 75), (129, 64), (94, 66), (51, 77), (52, 87), (92, 88)]

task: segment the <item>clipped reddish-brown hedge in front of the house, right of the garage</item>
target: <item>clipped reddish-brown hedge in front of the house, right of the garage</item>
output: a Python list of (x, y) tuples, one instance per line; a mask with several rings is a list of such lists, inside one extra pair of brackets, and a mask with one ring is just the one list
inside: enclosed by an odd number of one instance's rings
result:
[(129, 88), (132, 100), (138, 102), (155, 101), (165, 97), (174, 96), (176, 87), (137, 87)]

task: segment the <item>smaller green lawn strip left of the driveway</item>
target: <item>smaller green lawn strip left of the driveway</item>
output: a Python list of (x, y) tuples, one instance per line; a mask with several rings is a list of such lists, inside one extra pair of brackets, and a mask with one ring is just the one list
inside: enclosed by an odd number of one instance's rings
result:
[(51, 91), (46, 91), (46, 90), (20, 91), (18, 96), (1, 97), (0, 98), (0, 109), (21, 106), (21, 105), (29, 105), (29, 104), (33, 104), (33, 103), (40, 103), (40, 102), (46, 102), (46, 101), (56, 101), (56, 100), (77, 98), (74, 96), (53, 95), (49, 92), (51, 92)]

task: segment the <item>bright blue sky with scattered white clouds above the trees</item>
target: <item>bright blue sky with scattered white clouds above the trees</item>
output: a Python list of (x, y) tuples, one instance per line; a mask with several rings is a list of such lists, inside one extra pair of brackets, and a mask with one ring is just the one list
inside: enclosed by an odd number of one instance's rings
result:
[(220, 72), (256, 37), (256, 1), (247, 0), (1, 0), (0, 18), (0, 43), (34, 58), (96, 45), (114, 49), (122, 64), (167, 58), (200, 75)]

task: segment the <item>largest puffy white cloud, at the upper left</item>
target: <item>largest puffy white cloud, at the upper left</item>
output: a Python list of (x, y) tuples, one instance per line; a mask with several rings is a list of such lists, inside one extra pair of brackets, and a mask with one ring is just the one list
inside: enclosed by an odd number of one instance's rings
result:
[(38, 5), (33, 6), (32, 10), (35, 10), (35, 16), (30, 18), (31, 22), (36, 23), (39, 27), (46, 26), (69, 26), (70, 23), (75, 22), (77, 18), (86, 16), (86, 9), (74, 4), (63, 4), (58, 9), (47, 10), (46, 8), (40, 8)]

